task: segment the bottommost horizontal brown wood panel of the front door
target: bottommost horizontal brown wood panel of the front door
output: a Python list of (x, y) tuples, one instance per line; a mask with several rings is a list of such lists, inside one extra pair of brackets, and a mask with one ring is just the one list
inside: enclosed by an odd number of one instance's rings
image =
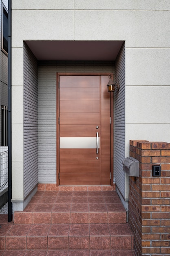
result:
[(98, 185), (100, 177), (96, 173), (60, 173), (60, 185)]

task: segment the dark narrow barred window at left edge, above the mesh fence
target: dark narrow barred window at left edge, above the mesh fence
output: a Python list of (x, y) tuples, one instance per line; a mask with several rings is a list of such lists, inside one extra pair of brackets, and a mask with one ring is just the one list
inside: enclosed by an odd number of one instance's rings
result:
[(8, 135), (7, 135), (7, 126), (8, 126), (8, 107), (1, 106), (1, 131), (2, 131), (2, 146), (8, 146)]

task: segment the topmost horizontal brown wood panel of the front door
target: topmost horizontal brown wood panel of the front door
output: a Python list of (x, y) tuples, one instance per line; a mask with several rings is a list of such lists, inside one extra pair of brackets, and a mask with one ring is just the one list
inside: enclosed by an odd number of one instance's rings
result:
[(99, 88), (99, 76), (60, 76), (60, 88)]

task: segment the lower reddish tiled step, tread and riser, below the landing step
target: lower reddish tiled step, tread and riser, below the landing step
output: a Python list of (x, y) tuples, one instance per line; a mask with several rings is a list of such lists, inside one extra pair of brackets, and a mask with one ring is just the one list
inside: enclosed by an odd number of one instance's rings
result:
[(128, 224), (1, 225), (1, 250), (132, 250)]

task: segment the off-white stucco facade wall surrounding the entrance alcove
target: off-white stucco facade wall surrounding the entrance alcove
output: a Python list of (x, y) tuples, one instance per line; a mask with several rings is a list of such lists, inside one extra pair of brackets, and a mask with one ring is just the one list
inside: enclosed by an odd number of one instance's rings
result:
[(12, 9), (12, 160), (20, 184), (23, 40), (125, 40), (126, 156), (129, 139), (170, 142), (169, 0), (15, 0)]

